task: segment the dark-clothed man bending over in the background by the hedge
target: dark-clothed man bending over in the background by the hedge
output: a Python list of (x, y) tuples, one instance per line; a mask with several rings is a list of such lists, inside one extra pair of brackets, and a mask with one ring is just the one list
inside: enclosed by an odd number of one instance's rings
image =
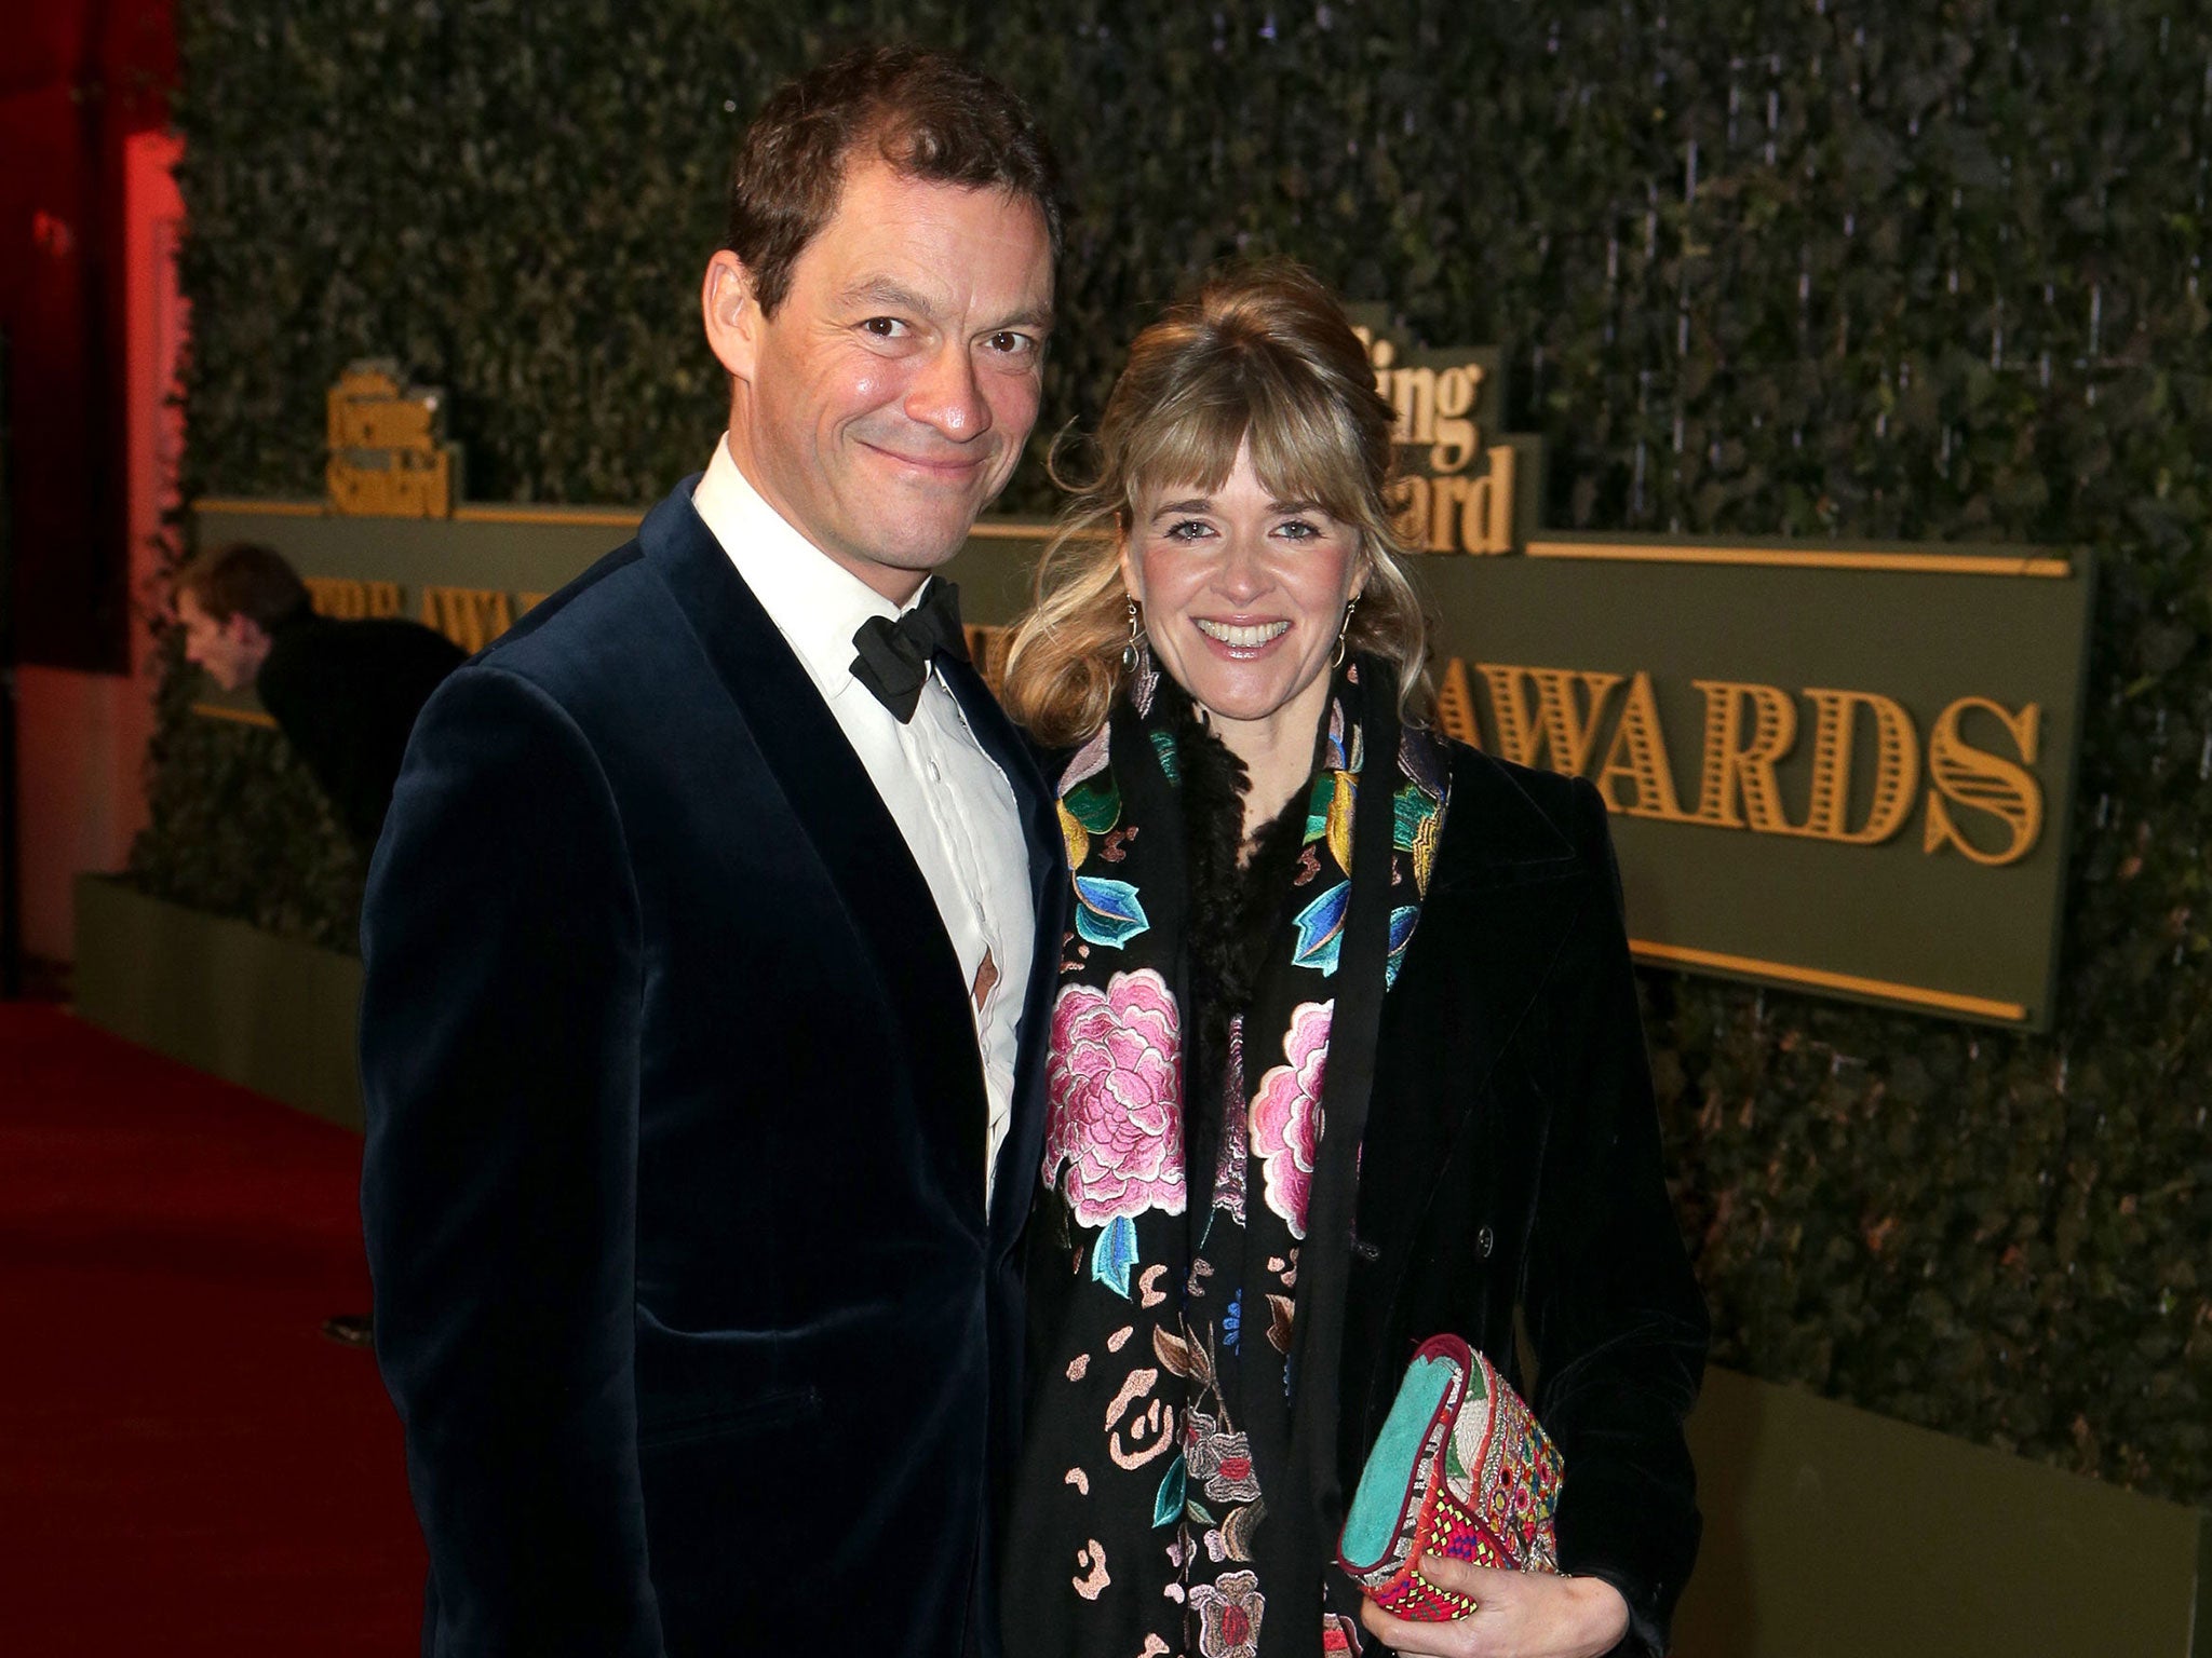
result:
[(283, 555), (252, 542), (201, 553), (175, 592), (184, 659), (223, 690), (254, 688), (367, 858), (407, 732), (460, 646), (398, 617), (319, 617)]

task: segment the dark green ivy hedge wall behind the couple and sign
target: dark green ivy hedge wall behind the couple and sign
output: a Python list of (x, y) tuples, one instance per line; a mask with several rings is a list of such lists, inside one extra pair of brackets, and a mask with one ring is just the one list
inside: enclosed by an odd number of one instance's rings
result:
[[(1555, 524), (2097, 546), (2057, 1030), (1648, 975), (1650, 1032), (1721, 1362), (2212, 1501), (2212, 33), (2172, 13), (192, 0), (190, 486), (316, 491), (323, 389), (398, 354), (471, 493), (657, 497), (721, 422), (728, 148), (885, 33), (967, 46), (1064, 146), (1046, 424), (1192, 274), (1287, 252), (1515, 345)], [(177, 707), (142, 878), (343, 933), (303, 778)]]

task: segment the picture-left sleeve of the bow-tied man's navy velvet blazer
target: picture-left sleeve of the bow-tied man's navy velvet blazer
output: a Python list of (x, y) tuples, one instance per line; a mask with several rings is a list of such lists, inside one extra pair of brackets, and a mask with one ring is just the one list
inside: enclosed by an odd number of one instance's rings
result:
[(637, 1472), (639, 906), (575, 721), (429, 701), (363, 906), (363, 1231), (425, 1651), (661, 1651)]

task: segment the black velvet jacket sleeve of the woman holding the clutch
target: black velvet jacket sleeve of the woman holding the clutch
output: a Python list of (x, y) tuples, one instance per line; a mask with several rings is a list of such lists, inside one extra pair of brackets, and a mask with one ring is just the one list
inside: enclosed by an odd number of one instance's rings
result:
[(1619, 869), (1588, 780), (1575, 783), (1575, 844), (1601, 895), (1546, 1030), (1555, 1096), (1526, 1280), (1535, 1410), (1566, 1463), (1559, 1567), (1621, 1592), (1624, 1651), (1661, 1654), (1697, 1561), (1681, 1424), (1710, 1320), (1666, 1192)]

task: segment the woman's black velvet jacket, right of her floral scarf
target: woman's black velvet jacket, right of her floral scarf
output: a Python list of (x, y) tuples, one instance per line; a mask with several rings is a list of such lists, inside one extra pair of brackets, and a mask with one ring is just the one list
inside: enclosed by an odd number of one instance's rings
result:
[[(1451, 1331), (1566, 1461), (1559, 1565), (1661, 1651), (1697, 1559), (1681, 1419), (1705, 1300), (1659, 1156), (1606, 809), (1584, 780), (1451, 745), (1420, 928), (1383, 1004), (1338, 1373), (1349, 1501), (1416, 1344)], [(1524, 1307), (1535, 1375), (1515, 1353)], [(1340, 1521), (1340, 1510), (1336, 1510)]]

